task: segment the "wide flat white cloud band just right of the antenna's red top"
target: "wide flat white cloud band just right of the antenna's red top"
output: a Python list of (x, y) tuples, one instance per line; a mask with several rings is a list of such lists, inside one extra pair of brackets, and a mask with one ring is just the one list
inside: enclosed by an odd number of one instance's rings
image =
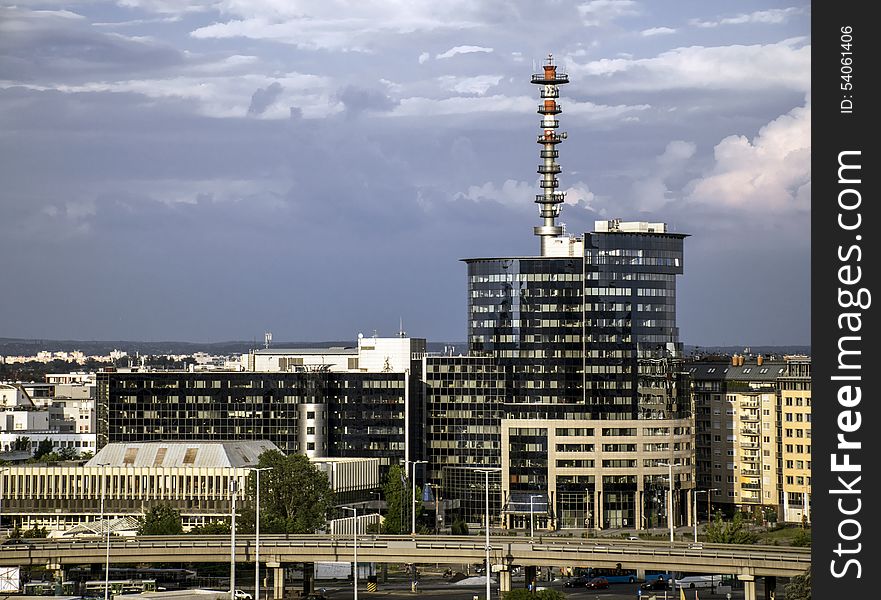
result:
[[(751, 46), (689, 46), (652, 58), (614, 58), (578, 64), (570, 77), (596, 77), (593, 89), (657, 91), (671, 89), (810, 89), (811, 47), (804, 38)], [(590, 83), (593, 85), (593, 83)]]

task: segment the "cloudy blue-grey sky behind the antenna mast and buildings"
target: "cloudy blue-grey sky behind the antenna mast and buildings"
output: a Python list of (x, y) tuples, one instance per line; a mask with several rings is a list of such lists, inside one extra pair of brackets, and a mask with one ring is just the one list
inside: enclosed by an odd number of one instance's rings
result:
[(810, 3), (0, 4), (0, 337), (466, 337), (460, 259), (690, 235), (686, 344), (810, 343)]

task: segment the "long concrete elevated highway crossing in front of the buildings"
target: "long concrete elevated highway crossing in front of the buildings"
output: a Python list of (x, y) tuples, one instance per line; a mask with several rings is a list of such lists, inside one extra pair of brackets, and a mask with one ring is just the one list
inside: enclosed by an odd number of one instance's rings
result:
[[(101, 539), (16, 540), (0, 545), (0, 566), (67, 566), (102, 564)], [(254, 562), (254, 536), (236, 536), (236, 562)], [(350, 562), (352, 536), (261, 535), (260, 560), (267, 567), (324, 561)], [(220, 563), (230, 560), (229, 536), (140, 536), (111, 540), (110, 561), (129, 563)], [(476, 536), (359, 535), (358, 560), (378, 563), (481, 563), (486, 555), (483, 538)], [(553, 567), (615, 567), (730, 573), (751, 586), (755, 577), (791, 577), (810, 566), (810, 549), (781, 546), (691, 544), (646, 540), (514, 536), (490, 538), (490, 557), (496, 570), (509, 572), (515, 565)], [(279, 579), (276, 572), (276, 581)], [(276, 586), (276, 595), (283, 590)], [(747, 590), (749, 592), (749, 589)], [(749, 594), (747, 594), (749, 598)]]

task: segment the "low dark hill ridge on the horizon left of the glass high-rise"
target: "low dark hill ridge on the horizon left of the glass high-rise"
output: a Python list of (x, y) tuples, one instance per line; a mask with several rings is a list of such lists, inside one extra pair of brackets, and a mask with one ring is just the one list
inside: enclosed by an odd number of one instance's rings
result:
[[(355, 340), (328, 341), (328, 342), (272, 342), (272, 348), (327, 348), (330, 346), (355, 347)], [(428, 342), (429, 352), (444, 352), (449, 347), (455, 347), (457, 353), (464, 354), (465, 342)], [(33, 356), (40, 351), (48, 352), (72, 352), (79, 350), (87, 356), (105, 356), (112, 350), (121, 350), (133, 354), (194, 354), (205, 352), (216, 355), (244, 354), (253, 348), (262, 348), (263, 344), (257, 341), (229, 341), (229, 342), (137, 342), (130, 340), (47, 340), (47, 339), (20, 339), (0, 338), (0, 355), (3, 356)]]

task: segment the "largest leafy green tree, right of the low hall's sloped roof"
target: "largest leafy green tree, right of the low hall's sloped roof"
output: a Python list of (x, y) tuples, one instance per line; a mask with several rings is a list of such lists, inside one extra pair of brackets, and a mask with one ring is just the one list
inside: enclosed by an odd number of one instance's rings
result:
[[(333, 490), (327, 475), (302, 454), (285, 456), (278, 450), (260, 455), (260, 531), (314, 533), (327, 524)], [(256, 500), (257, 477), (248, 477), (248, 495)], [(243, 511), (243, 530), (254, 527), (254, 509)]]

